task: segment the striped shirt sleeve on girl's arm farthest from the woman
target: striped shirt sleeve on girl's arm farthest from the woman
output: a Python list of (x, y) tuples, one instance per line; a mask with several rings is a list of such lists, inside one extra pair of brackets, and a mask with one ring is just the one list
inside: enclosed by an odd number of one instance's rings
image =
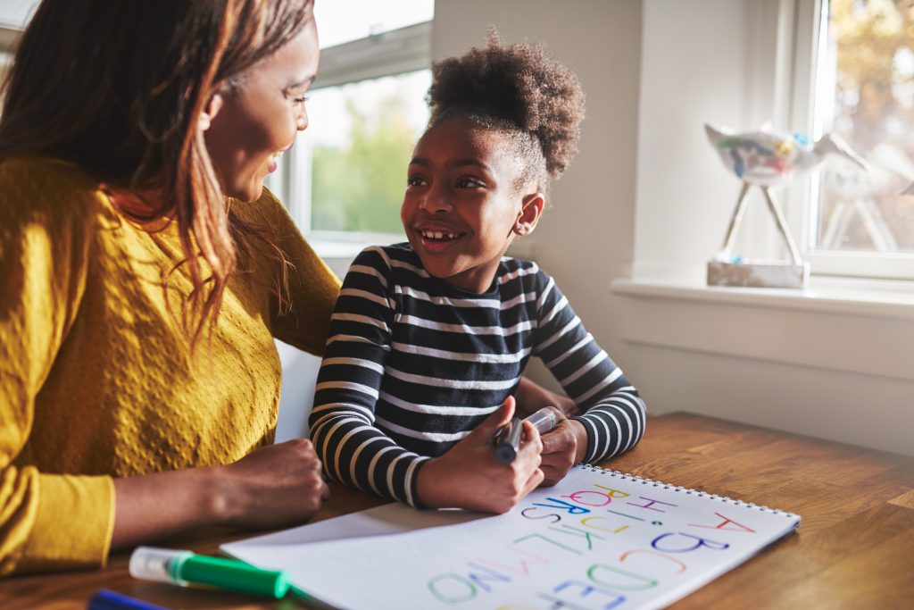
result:
[(551, 277), (537, 273), (535, 354), (578, 404), (575, 417), (587, 430), (584, 461), (605, 460), (631, 449), (644, 434), (645, 405), (575, 315)]

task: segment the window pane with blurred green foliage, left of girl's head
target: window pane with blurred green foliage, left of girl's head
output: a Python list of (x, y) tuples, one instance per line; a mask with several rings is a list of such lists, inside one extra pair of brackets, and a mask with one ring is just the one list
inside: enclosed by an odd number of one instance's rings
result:
[(316, 90), (308, 101), (312, 230), (401, 233), (409, 155), (429, 120), (430, 70)]

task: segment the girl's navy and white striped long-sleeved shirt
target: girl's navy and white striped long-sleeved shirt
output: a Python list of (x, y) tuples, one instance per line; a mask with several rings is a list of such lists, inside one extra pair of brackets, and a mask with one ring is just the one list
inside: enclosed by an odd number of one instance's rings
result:
[(631, 449), (644, 403), (535, 262), (503, 258), (484, 294), (431, 277), (408, 243), (346, 273), (314, 394), (311, 438), (331, 478), (420, 506), (422, 463), (515, 393), (542, 359), (584, 412), (587, 462)]

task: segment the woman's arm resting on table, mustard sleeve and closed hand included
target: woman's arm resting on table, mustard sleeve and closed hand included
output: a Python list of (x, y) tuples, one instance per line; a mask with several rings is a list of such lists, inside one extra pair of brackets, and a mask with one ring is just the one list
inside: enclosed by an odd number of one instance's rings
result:
[[(62, 187), (60, 197), (36, 190), (12, 198), (16, 190), (2, 186), (29, 184), (17, 167), (0, 167), (0, 574), (98, 567), (112, 544), (199, 525), (280, 527), (313, 514), (326, 487), (307, 441), (265, 447), (228, 466), (116, 480), (16, 462), (34, 432), (37, 394), (80, 311), (95, 241), (93, 200)], [(44, 177), (41, 169), (35, 173)]]

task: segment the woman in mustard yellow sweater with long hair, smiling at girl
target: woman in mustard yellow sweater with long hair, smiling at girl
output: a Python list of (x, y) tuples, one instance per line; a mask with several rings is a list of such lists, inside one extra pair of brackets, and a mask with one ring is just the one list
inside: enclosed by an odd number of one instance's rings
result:
[(307, 126), (312, 0), (45, 0), (0, 118), (0, 573), (326, 496), (272, 445), (273, 337), (338, 281), (263, 179)]

